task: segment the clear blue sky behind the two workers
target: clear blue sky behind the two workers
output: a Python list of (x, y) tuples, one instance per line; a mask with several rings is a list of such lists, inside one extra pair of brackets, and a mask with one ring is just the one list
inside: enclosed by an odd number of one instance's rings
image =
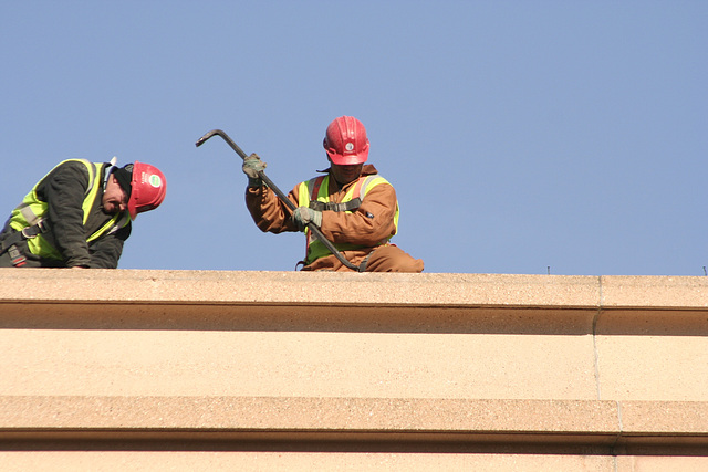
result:
[(55, 164), (159, 167), (122, 269), (291, 271), (246, 210), (360, 118), (426, 272), (705, 275), (708, 2), (0, 2), (0, 211)]

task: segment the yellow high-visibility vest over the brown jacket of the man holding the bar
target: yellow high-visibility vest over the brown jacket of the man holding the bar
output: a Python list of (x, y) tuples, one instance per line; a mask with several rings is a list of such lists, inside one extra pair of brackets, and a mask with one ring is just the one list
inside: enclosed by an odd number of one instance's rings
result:
[[(374, 187), (388, 183), (388, 181), (378, 176), (362, 176), (358, 178), (355, 185), (351, 186), (347, 192), (344, 195), (341, 203), (330, 202), (330, 175), (315, 177), (308, 181), (300, 183), (298, 189), (298, 207), (310, 207), (315, 210), (332, 210), (344, 211), (346, 213), (353, 213), (361, 204), (361, 200), (366, 197), (366, 193)], [(396, 201), (396, 212), (394, 214), (394, 234), (398, 231), (398, 202)], [(306, 235), (306, 255), (305, 265), (313, 263), (315, 260), (330, 255), (331, 252), (326, 247), (317, 239), (312, 238), (310, 230), (305, 228)], [(382, 245), (388, 243), (388, 240), (393, 234), (384, 238), (375, 245)], [(337, 251), (352, 251), (371, 248), (371, 245), (351, 244), (351, 243), (334, 243)]]

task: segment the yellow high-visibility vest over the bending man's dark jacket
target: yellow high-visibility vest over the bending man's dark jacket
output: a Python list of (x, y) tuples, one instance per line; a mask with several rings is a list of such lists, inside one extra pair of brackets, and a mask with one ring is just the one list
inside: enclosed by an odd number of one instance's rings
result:
[[(86, 166), (86, 170), (88, 170), (88, 188), (84, 193), (84, 201), (82, 204), (82, 210), (84, 212), (83, 223), (86, 224), (88, 220), (88, 214), (91, 213), (91, 209), (98, 196), (98, 190), (102, 189), (103, 182), (101, 182), (101, 168), (103, 164), (100, 162), (90, 162), (86, 159), (66, 159), (59, 162), (56, 167), (62, 164), (75, 161), (81, 162)], [(52, 169), (52, 171), (54, 170)], [(51, 174), (50, 171), (49, 174)], [(49, 176), (49, 174), (46, 176)], [(46, 177), (44, 176), (42, 180)], [(34, 188), (22, 199), (22, 203), (20, 203), (14, 210), (12, 210), (12, 214), (10, 217), (10, 227), (17, 231), (22, 231), (24, 228), (32, 227), (38, 224), (42, 219), (45, 218), (46, 210), (49, 208), (49, 203), (39, 199), (37, 195), (37, 188), (39, 187), (40, 180)], [(131, 222), (131, 218), (127, 211), (122, 211), (116, 213), (110, 221), (107, 221), (103, 227), (98, 228), (96, 232), (86, 238), (86, 242), (91, 242), (105, 233), (117, 231), (119, 228), (127, 225)], [(50, 230), (51, 231), (51, 228)], [(28, 248), (32, 254), (39, 255), (40, 258), (45, 259), (56, 259), (63, 260), (62, 254), (54, 248), (49, 241), (42, 237), (42, 234), (38, 234), (34, 238), (27, 240)]]

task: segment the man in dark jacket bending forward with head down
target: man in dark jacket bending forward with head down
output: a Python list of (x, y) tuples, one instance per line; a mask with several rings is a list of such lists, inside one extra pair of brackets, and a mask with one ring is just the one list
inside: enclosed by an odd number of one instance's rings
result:
[(167, 181), (135, 161), (69, 159), (24, 197), (0, 233), (0, 268), (115, 269), (137, 213), (157, 208)]

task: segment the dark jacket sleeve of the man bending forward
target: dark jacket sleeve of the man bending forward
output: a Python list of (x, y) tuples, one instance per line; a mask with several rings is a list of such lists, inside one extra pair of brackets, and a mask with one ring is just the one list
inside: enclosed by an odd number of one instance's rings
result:
[(83, 164), (65, 162), (38, 187), (38, 196), (48, 204), (46, 216), (54, 244), (67, 268), (88, 266), (91, 263), (82, 209), (88, 179), (88, 170)]

